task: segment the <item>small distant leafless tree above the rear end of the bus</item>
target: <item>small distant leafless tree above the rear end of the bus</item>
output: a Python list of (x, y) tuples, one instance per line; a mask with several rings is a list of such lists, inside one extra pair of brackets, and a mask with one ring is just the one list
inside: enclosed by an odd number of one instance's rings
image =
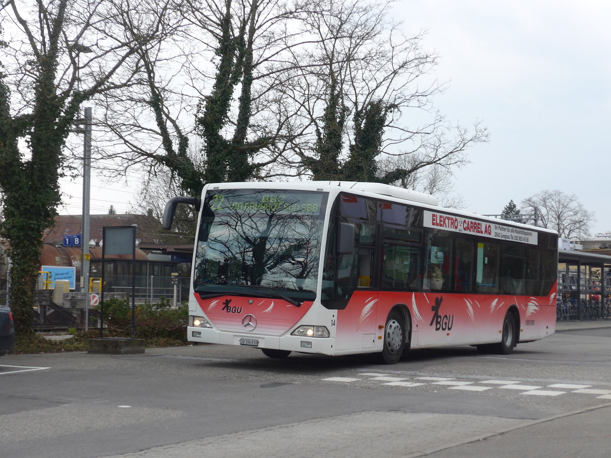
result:
[(590, 234), (590, 226), (596, 219), (577, 200), (576, 195), (561, 191), (541, 191), (522, 200), (522, 213), (536, 214), (538, 225), (558, 231), (568, 239), (583, 238)]

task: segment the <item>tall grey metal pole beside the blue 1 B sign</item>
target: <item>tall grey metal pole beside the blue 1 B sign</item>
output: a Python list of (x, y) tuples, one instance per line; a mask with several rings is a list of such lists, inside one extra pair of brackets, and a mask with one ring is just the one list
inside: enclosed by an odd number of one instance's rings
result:
[(85, 330), (89, 330), (89, 189), (91, 183), (91, 107), (85, 107), (85, 134), (82, 158), (81, 291), (85, 294)]

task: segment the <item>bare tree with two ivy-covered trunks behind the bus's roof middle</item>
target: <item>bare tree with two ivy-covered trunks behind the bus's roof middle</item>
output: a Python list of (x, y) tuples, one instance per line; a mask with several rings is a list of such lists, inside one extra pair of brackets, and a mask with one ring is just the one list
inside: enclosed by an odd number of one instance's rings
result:
[[(466, 163), (466, 148), (486, 141), (477, 123), (469, 133), (450, 126), (433, 110), (442, 85), (424, 84), (437, 56), (422, 48), (425, 32), (406, 37), (388, 18), (390, 2), (322, 0), (307, 20), (316, 46), (299, 62), (306, 83), (291, 88), (307, 100), (304, 116), (315, 126), (310, 150), (299, 150), (315, 179), (392, 181), (430, 165), (447, 169)], [(288, 92), (288, 91), (287, 91)], [(422, 125), (408, 125), (409, 111), (428, 113)], [(411, 155), (408, 169), (379, 170), (379, 158)]]

